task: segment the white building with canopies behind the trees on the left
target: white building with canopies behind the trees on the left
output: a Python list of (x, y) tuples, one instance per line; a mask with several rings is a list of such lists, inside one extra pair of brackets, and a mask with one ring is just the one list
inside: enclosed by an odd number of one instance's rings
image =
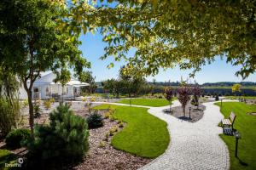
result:
[[(55, 83), (56, 75), (53, 72), (43, 73), (36, 80), (32, 87), (33, 99), (49, 99), (53, 97), (62, 97), (62, 86), (60, 82)], [(63, 87), (63, 97), (71, 99), (80, 96), (81, 87), (89, 86), (86, 82), (79, 82), (76, 79), (71, 79), (67, 85)], [(20, 88), (20, 99), (27, 99), (27, 94), (24, 88)]]

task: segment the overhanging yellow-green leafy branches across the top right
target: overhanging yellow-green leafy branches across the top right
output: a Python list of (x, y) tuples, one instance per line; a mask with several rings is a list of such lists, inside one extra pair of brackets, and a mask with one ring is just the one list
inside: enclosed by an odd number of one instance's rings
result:
[(103, 41), (108, 42), (102, 59), (127, 59), (134, 48), (128, 68), (137, 67), (147, 75), (179, 65), (193, 68), (194, 76), (218, 55), (241, 65), (237, 76), (246, 78), (256, 70), (254, 1), (117, 0), (114, 6), (81, 2), (73, 6), (69, 26), (85, 26), (85, 31), (101, 27)]

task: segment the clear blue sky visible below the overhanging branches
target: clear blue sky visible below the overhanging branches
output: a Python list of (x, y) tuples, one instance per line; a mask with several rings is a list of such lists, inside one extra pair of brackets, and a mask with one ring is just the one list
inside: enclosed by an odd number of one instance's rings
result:
[[(116, 78), (119, 74), (119, 68), (125, 65), (124, 61), (114, 62), (112, 57), (108, 59), (99, 59), (104, 54), (104, 47), (106, 44), (102, 42), (102, 36), (99, 33), (92, 35), (91, 33), (81, 36), (80, 40), (82, 45), (79, 47), (82, 50), (83, 55), (86, 59), (91, 62), (91, 69), (93, 75), (96, 77), (96, 82), (107, 80), (108, 78)], [(107, 65), (113, 62), (114, 67), (108, 69)], [(199, 83), (203, 82), (241, 82), (241, 77), (236, 77), (235, 72), (240, 69), (239, 66), (232, 66), (226, 64), (225, 60), (221, 60), (218, 57), (216, 61), (211, 65), (205, 65), (202, 67), (200, 72), (195, 75), (195, 81)], [(160, 73), (155, 77), (147, 77), (148, 81), (152, 81), (153, 78), (157, 82), (165, 82), (171, 80), (176, 82), (183, 77), (186, 79), (189, 77), (191, 71), (180, 71), (178, 68), (168, 69), (166, 71), (161, 70)], [(193, 79), (189, 79), (194, 82)], [(256, 82), (256, 74), (254, 73), (244, 81)]]

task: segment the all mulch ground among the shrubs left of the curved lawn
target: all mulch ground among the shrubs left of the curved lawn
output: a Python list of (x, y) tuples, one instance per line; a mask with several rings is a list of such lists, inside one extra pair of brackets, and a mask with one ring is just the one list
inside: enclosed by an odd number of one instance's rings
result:
[[(55, 106), (55, 105), (54, 105)], [(92, 105), (93, 107), (94, 105)], [(89, 116), (88, 107), (84, 106), (84, 102), (73, 103), (71, 106), (76, 115), (86, 118)], [(106, 111), (106, 110), (105, 110)], [(100, 114), (104, 114), (105, 111), (99, 111)], [(92, 111), (93, 112), (93, 111)], [(23, 125), (22, 127), (29, 127), (28, 125), (28, 115), (23, 115)], [(35, 119), (35, 123), (44, 124), (49, 123), (49, 111), (43, 109), (43, 114)], [(125, 123), (124, 123), (125, 126)], [(116, 150), (110, 144), (112, 137), (106, 139), (106, 133), (112, 127), (118, 127), (118, 122), (111, 122), (108, 119), (104, 119), (104, 126), (96, 129), (90, 129), (90, 149), (87, 155), (84, 157), (84, 161), (81, 161), (78, 165), (73, 167), (73, 169), (86, 169), (86, 170), (114, 170), (114, 169), (137, 169), (148, 164), (152, 159), (147, 159), (139, 156), (131, 155), (122, 150)], [(119, 127), (119, 131), (122, 127)], [(101, 145), (104, 141), (103, 146)], [(101, 145), (101, 146), (100, 146)], [(6, 149), (3, 140), (0, 141), (0, 149)], [(26, 148), (20, 148), (17, 150), (11, 150), (18, 156), (23, 156), (27, 153)]]

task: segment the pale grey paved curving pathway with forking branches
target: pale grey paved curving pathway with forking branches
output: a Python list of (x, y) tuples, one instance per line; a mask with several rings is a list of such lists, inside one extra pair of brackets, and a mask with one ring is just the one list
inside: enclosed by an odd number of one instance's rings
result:
[[(104, 103), (104, 102), (102, 102)], [(218, 134), (222, 128), (218, 122), (223, 118), (215, 102), (204, 103), (206, 110), (198, 122), (186, 122), (163, 112), (164, 107), (148, 107), (148, 112), (168, 124), (171, 142), (162, 155), (140, 170), (190, 170), (190, 169), (229, 169), (230, 156), (224, 141)], [(108, 103), (112, 105), (125, 105)], [(174, 101), (172, 107), (180, 105)], [(140, 105), (131, 105), (142, 107)]]

